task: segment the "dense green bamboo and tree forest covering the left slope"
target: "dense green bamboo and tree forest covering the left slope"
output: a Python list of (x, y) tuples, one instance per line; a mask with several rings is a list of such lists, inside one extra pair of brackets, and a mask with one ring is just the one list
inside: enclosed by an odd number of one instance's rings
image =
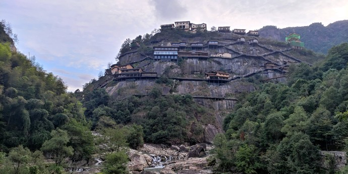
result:
[(142, 127), (101, 117), (93, 129), (104, 136), (93, 136), (75, 94), (34, 56), (13, 50), (11, 27), (0, 24), (0, 173), (65, 173), (69, 163), (89, 163), (95, 153), (106, 154), (104, 173), (125, 173), (120, 164), (128, 157), (120, 147), (142, 145)]

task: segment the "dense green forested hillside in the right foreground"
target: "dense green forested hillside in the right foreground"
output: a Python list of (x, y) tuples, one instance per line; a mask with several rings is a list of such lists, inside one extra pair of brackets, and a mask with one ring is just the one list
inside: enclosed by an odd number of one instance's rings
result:
[(332, 47), (320, 66), (291, 66), (287, 84), (263, 83), (240, 97), (224, 120), (226, 133), (215, 137), (216, 169), (335, 173), (333, 157), (323, 161), (319, 150), (348, 148), (347, 63), (343, 43)]

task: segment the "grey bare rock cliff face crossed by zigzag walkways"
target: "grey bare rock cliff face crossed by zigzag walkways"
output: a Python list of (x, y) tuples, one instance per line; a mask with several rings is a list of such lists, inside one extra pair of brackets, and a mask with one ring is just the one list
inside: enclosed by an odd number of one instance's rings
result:
[[(142, 52), (141, 49), (131, 50), (119, 57), (119, 63), (131, 64), (135, 68), (142, 68), (144, 72), (156, 72), (157, 78), (138, 78), (132, 81), (114, 79), (112, 83), (106, 85), (106, 91), (120, 99), (130, 95), (148, 95), (154, 87), (160, 89), (162, 95), (190, 94), (195, 102), (213, 111), (209, 114), (210, 118), (206, 118), (210, 121), (202, 121), (200, 116), (196, 115), (195, 122), (201, 123), (204, 129), (203, 137), (197, 138), (200, 142), (212, 142), (217, 133), (223, 132), (223, 118), (233, 109), (240, 94), (255, 90), (256, 86), (251, 83), (253, 79), (283, 82), (286, 80), (284, 77), (286, 70), (282, 68), (289, 66), (286, 63), (308, 62), (307, 56), (301, 50), (292, 50), (282, 42), (269, 39), (259, 38), (258, 44), (252, 45), (247, 42), (237, 42), (241, 36), (233, 33), (205, 32), (185, 37), (181, 31), (175, 32), (158, 33), (152, 38), (156, 43), (146, 46), (152, 48), (155, 45), (170, 45), (170, 42), (174, 41), (200, 41), (204, 43), (200, 51), (210, 54), (228, 52), (231, 57), (179, 57), (178, 62), (161, 62), (155, 61), (149, 52)], [(246, 41), (254, 38), (245, 37)], [(209, 47), (206, 44), (207, 40), (218, 40), (218, 45)], [(190, 46), (186, 48), (186, 50), (191, 49)], [(321, 59), (316, 54), (312, 56), (313, 59)], [(269, 68), (267, 64), (275, 67)], [(229, 80), (223, 83), (209, 81), (205, 73), (211, 71), (228, 73)], [(161, 78), (170, 83), (162, 82), (159, 80)], [(188, 129), (195, 127), (195, 122), (192, 122)], [(190, 130), (188, 132), (189, 136), (193, 135)]]

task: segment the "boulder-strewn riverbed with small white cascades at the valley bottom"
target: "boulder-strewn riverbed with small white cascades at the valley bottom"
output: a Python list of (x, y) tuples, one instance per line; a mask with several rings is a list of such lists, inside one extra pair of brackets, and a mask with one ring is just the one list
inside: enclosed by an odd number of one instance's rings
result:
[[(130, 161), (127, 166), (131, 174), (212, 173), (207, 161), (210, 149), (211, 146), (205, 143), (188, 147), (144, 144), (139, 150), (128, 151)], [(100, 157), (95, 156), (95, 160), (90, 163), (88, 165), (86, 161), (79, 161), (66, 170), (79, 174), (101, 171)]]

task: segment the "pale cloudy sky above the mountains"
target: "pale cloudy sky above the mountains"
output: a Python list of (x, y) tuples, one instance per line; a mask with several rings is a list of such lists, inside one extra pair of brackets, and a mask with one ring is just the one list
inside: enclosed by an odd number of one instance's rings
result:
[(175, 21), (248, 30), (324, 26), (348, 19), (342, 0), (1, 0), (0, 20), (18, 35), (17, 50), (35, 55), (68, 91), (98, 79), (122, 43)]

